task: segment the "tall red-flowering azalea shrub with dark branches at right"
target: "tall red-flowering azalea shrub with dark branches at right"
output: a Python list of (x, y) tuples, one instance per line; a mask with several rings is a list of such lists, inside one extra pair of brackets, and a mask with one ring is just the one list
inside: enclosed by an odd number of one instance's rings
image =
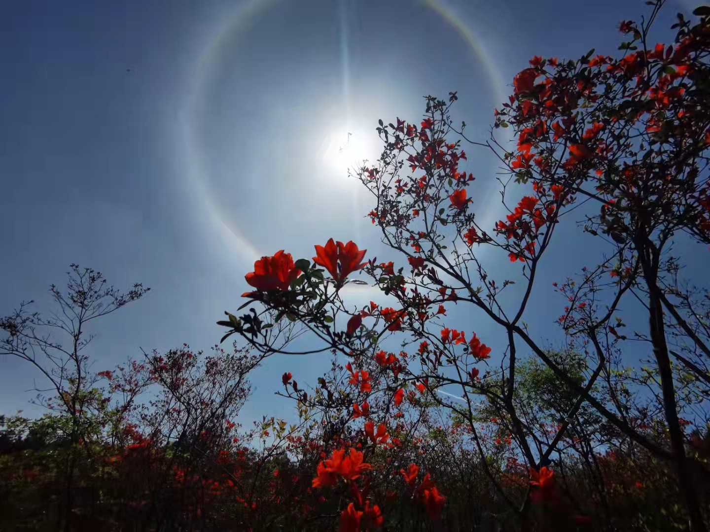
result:
[[(710, 72), (708, 18), (701, 9), (701, 20), (692, 26), (679, 16), (674, 45), (652, 46), (650, 25), (661, 6), (653, 3), (640, 26), (622, 24), (630, 35), (621, 45), (622, 57), (594, 55), (594, 50), (577, 61), (534, 57), (513, 80), (514, 94), (495, 113), (494, 129), (513, 128), (515, 150), (493, 136), (483, 144), (469, 140), (465, 125), (459, 128), (451, 118), (453, 92), (448, 101), (428, 96), (418, 126), (400, 118), (396, 124), (380, 121), (383, 153), (376, 166), (362, 167), (356, 177), (376, 197), (368, 216), (383, 241), (406, 257), (405, 265), (362, 262), (366, 253), (357, 245), (331, 239), (315, 246), (313, 264), (294, 263), (303, 275), (288, 289), (248, 294), (275, 321), (256, 333), (244, 328), (253, 323), (249, 315), (225, 323), (262, 353), (293, 353), (275, 347), (269, 331), (289, 316), (302, 333), (322, 342), (322, 351), (336, 355), (319, 387), (310, 393), (295, 386), (285, 391), (300, 408), (320, 414), (326, 445), (329, 438), (362, 445), (358, 434), (364, 431), (368, 443), (403, 452), (417, 438), (463, 431), (457, 450), (478, 455), (488, 482), (520, 526), (535, 519), (535, 512), (544, 514), (545, 506), (575, 526), (588, 524), (601, 507), (611, 526), (606, 480), (590, 457), (602, 448), (632, 445), (675, 472), (682, 501), (677, 507), (684, 509), (688, 526), (704, 528), (705, 499), (698, 496), (702, 489), (693, 471), (706, 475), (707, 470), (689, 453), (686, 428), (704, 419), (694, 416), (696, 421), (686, 426), (680, 420), (708, 397), (710, 350), (707, 329), (699, 326), (703, 318), (694, 316), (687, 303), (692, 295), (679, 289), (679, 259), (668, 250), (680, 233), (710, 243), (710, 101), (697, 88)], [(492, 228), (481, 226), (475, 216), (474, 176), (461, 166), (469, 159), (461, 150), (464, 142), (493, 150), (510, 175), (503, 182), (508, 214)], [(508, 208), (510, 196), (515, 200)], [(559, 223), (579, 207), (586, 217), (583, 231), (608, 253), (602, 251), (599, 265), (584, 267), (579, 279), (555, 283), (555, 291), (567, 299), (558, 320), (567, 345), (554, 353), (538, 345), (522, 318), (532, 303), (542, 255)], [(519, 265), (518, 277), (494, 279), (476, 254), (481, 246), (500, 249)], [(363, 282), (354, 279), (356, 273), (364, 273), (397, 304), (371, 301), (351, 309), (341, 289)], [(621, 360), (621, 343), (628, 339), (618, 333), (625, 326), (621, 302), (632, 296), (643, 300), (650, 322), (648, 337), (641, 338), (652, 345), (653, 358), (641, 362), (646, 364), (641, 373)], [(490, 361), (502, 353), (493, 353), (481, 331), (447, 325), (447, 308), (465, 304), (481, 311), (506, 338), (499, 369)], [(669, 331), (687, 357), (668, 348)], [(394, 334), (401, 335), (404, 349), (388, 353), (383, 345)], [(525, 370), (535, 361), (542, 366)], [(521, 371), (526, 380), (520, 379)], [(686, 389), (677, 388), (676, 380)], [(551, 384), (564, 394), (550, 392)], [(648, 389), (655, 403), (642, 399)], [(531, 396), (542, 404), (530, 408)], [(444, 423), (432, 426), (432, 416)], [(481, 426), (484, 419), (495, 427)], [(383, 427), (387, 440), (373, 436), (374, 426)], [(506, 460), (506, 466), (496, 465), (493, 457)], [(319, 472), (334, 475), (327, 473), (326, 463)], [(599, 487), (586, 508), (575, 501), (568, 483), (557, 481), (556, 469), (572, 463), (589, 468)], [(417, 467), (417, 461), (411, 465)], [(401, 472), (409, 484), (415, 469)], [(445, 500), (439, 488), (415, 493), (413, 500), (438, 518)], [(386, 521), (388, 507), (382, 508)], [(354, 526), (358, 511), (358, 504), (347, 506), (343, 522)]]

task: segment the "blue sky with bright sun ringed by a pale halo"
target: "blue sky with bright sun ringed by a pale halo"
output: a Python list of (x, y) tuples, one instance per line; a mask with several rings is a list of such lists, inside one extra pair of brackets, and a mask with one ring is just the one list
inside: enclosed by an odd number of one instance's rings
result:
[[(23, 299), (41, 309), (48, 285), (62, 284), (78, 262), (117, 286), (152, 289), (100, 323), (95, 370), (140, 348), (207, 350), (223, 332), (214, 322), (241, 304), (258, 256), (285, 248), (311, 257), (312, 245), (331, 236), (384, 256), (364, 218), (371, 200), (346, 177), (354, 159), (378, 155), (378, 118), (415, 121), (421, 96), (457, 90), (457, 118), (482, 139), (532, 55), (614, 52), (619, 21), (640, 19), (643, 4), (8, 2), (0, 18), (0, 314)], [(669, 1), (657, 40), (669, 42), (667, 21), (692, 7)], [(486, 153), (466, 151), (474, 205), (485, 213), (496, 201), (495, 167)], [(581, 266), (588, 244), (552, 250), (546, 275)], [(534, 336), (555, 343), (561, 301), (553, 303), (550, 279), (529, 321)], [(273, 397), (283, 371), (313, 382), (327, 367), (327, 355), (272, 358), (253, 376), (243, 419), (290, 411)], [(40, 386), (33, 368), (0, 360), (0, 413), (34, 411), (27, 390), (35, 378)]]

